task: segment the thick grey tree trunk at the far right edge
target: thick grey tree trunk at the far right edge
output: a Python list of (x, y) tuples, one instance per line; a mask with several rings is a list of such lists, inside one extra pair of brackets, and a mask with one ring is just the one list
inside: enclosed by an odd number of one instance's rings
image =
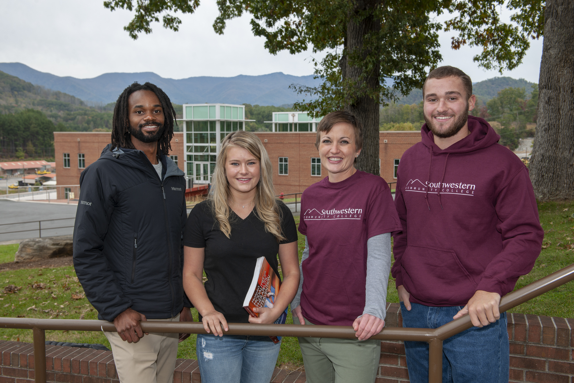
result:
[(574, 198), (574, 1), (547, 0), (530, 178), (538, 200)]

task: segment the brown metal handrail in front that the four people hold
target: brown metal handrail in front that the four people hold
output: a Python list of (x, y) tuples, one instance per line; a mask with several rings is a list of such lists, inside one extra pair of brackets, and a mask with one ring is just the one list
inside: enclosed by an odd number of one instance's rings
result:
[[(534, 297), (540, 296), (574, 279), (574, 263), (555, 273), (515, 290), (502, 297), (499, 309), (505, 312)], [(173, 332), (206, 334), (203, 324), (198, 322), (141, 322), (144, 332)], [(383, 328), (373, 339), (417, 340), (429, 343), (429, 383), (443, 381), (443, 341), (461, 331), (471, 328), (470, 317), (465, 315), (439, 328)], [(34, 377), (36, 383), (46, 383), (45, 330), (115, 331), (113, 323), (104, 320), (80, 319), (28, 319), (0, 318), (0, 328), (31, 329), (34, 336)], [(251, 324), (230, 323), (229, 335), (274, 335), (304, 336), (309, 338), (355, 339), (350, 326), (299, 325), (299, 324)]]

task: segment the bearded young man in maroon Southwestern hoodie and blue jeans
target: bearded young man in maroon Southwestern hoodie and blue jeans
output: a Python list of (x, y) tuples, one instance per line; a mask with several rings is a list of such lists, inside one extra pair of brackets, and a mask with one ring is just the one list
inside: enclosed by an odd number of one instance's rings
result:
[[(501, 297), (529, 273), (544, 231), (528, 169), (483, 120), (463, 71), (431, 71), (422, 141), (402, 155), (392, 268), (404, 327), (437, 328), (465, 314), (474, 327), (443, 343), (443, 382), (508, 382)], [(428, 381), (428, 343), (405, 342), (412, 382)]]

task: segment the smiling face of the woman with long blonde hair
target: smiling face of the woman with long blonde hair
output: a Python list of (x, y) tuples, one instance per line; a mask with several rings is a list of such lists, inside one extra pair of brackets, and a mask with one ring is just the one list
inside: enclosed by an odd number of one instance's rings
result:
[(231, 146), (227, 148), (225, 175), (232, 189), (249, 193), (255, 189), (261, 174), (261, 163), (247, 149)]

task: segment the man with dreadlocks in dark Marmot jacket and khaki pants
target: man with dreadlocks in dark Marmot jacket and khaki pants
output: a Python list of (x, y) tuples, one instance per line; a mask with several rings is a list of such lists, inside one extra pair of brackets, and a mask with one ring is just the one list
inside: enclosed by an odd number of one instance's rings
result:
[[(157, 86), (134, 82), (115, 104), (111, 144), (80, 176), (73, 262), (106, 332), (122, 383), (173, 380), (177, 334), (144, 320), (193, 321), (182, 284), (184, 173), (169, 158), (175, 112)], [(189, 334), (180, 334), (180, 342)]]

